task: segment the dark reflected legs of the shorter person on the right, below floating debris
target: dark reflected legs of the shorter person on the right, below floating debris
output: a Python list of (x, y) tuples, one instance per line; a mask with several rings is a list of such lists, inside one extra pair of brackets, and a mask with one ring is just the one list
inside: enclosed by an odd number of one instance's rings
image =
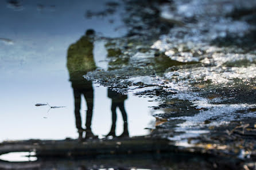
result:
[(115, 137), (115, 126), (117, 122), (117, 107), (120, 109), (123, 117), (123, 133), (119, 137), (129, 137), (127, 114), (125, 112), (125, 100), (127, 95), (115, 92), (108, 88), (107, 96), (112, 99), (111, 111), (112, 111), (112, 125), (110, 132), (106, 136)]

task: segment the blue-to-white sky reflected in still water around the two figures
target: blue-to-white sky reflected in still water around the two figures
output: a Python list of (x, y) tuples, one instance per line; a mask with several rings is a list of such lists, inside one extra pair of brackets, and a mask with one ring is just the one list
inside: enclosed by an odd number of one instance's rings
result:
[[(86, 10), (102, 10), (107, 1), (21, 1), (22, 10), (0, 2), (1, 131), (0, 141), (17, 139), (77, 138), (73, 115), (73, 92), (68, 81), (67, 50), (87, 29), (106, 37), (118, 37), (125, 29), (115, 30), (123, 23), (119, 14), (105, 18), (84, 17)], [(43, 4), (42, 9), (38, 5)], [(76, 11), (74, 13), (74, 11)], [(109, 19), (115, 19), (109, 23)], [(104, 26), (102, 26), (104, 25)], [(107, 52), (103, 41), (94, 42), (96, 66), (107, 68)], [(110, 131), (111, 99), (107, 88), (94, 84), (94, 115), (92, 131), (102, 137)], [(84, 99), (83, 99), (84, 100)], [(145, 135), (144, 128), (154, 120), (148, 106), (156, 105), (147, 98), (128, 94), (125, 108), (130, 136)], [(34, 106), (48, 102), (52, 106)], [(82, 124), (86, 105), (82, 101)], [(139, 107), (138, 107), (139, 106)], [(117, 135), (122, 133), (122, 116), (117, 111)], [(44, 118), (46, 117), (46, 118)]]

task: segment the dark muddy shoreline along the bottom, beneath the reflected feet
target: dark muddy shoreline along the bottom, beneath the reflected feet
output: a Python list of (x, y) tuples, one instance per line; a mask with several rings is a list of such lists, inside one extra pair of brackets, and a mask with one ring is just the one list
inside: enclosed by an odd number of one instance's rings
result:
[(87, 168), (98, 165), (100, 161), (101, 168), (129, 168), (132, 165), (146, 169), (166, 167), (196, 169), (199, 168), (197, 165), (199, 163), (203, 169), (241, 169), (246, 163), (233, 156), (213, 155), (209, 151), (206, 153), (196, 151), (196, 148), (179, 148), (171, 145), (168, 140), (150, 137), (88, 140), (82, 143), (66, 139), (10, 141), (1, 144), (2, 153), (30, 151), (36, 152), (37, 161), (17, 163), (0, 161), (0, 167), (44, 169), (51, 167), (52, 164), (72, 160), (72, 164), (83, 163)]

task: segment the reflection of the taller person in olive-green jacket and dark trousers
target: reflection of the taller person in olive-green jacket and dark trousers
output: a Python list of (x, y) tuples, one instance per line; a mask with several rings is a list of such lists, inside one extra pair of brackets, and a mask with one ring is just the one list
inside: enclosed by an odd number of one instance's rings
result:
[(91, 131), (92, 109), (94, 106), (94, 89), (92, 82), (83, 78), (87, 72), (96, 69), (92, 50), (94, 48), (94, 30), (87, 30), (86, 35), (81, 37), (75, 44), (68, 48), (67, 68), (69, 81), (72, 82), (73, 95), (75, 98), (76, 128), (79, 140), (83, 138), (83, 128), (80, 116), (81, 96), (83, 94), (86, 104), (86, 139), (95, 137)]

